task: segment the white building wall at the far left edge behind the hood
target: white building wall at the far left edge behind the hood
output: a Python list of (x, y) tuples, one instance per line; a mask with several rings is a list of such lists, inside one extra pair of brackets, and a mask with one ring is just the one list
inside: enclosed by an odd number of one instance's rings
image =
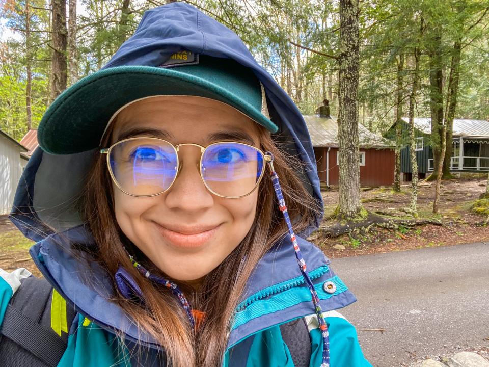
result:
[(0, 130), (0, 215), (9, 214), (28, 150)]

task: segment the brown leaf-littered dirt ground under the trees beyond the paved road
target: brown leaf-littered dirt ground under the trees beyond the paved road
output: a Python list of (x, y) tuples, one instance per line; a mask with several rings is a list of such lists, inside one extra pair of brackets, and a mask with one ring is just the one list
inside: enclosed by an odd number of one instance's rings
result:
[[(470, 212), (471, 204), (485, 191), (486, 183), (486, 178), (443, 181), (439, 215), (431, 213), (434, 183), (420, 183), (418, 219), (432, 219), (440, 221), (442, 225), (399, 225), (397, 229), (374, 227), (368, 232), (354, 232), (336, 238), (325, 236), (318, 231), (309, 239), (330, 258), (472, 242), (489, 244), (489, 226), (476, 225), (485, 217)], [(322, 194), (325, 211), (322, 226), (328, 226), (333, 223), (328, 217), (337, 206), (338, 190), (324, 190)], [(409, 206), (409, 184), (402, 186), (401, 193), (393, 193), (391, 187), (362, 188), (362, 201), (371, 213), (384, 216), (390, 214), (390, 218), (413, 219), (400, 211), (403, 207)], [(33, 242), (23, 237), (7, 216), (0, 216), (0, 269), (12, 271), (24, 267), (40, 276), (28, 252), (32, 244)]]

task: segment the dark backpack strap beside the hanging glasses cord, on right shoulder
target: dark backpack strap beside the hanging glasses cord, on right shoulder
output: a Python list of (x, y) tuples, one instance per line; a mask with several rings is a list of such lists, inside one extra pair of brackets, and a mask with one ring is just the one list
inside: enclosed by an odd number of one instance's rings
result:
[(295, 367), (309, 367), (311, 338), (304, 318), (280, 325), (282, 339), (289, 348)]

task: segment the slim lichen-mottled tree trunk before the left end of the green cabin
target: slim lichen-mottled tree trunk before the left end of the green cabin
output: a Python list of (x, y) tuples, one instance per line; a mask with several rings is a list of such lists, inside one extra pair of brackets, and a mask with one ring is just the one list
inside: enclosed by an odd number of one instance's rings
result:
[(409, 153), (411, 158), (411, 203), (410, 208), (417, 212), (418, 202), (418, 162), (416, 161), (416, 138), (415, 138), (415, 125), (414, 125), (414, 104), (416, 103), (416, 93), (419, 82), (419, 49), (418, 46), (414, 49), (414, 76), (413, 76), (413, 89), (409, 96)]

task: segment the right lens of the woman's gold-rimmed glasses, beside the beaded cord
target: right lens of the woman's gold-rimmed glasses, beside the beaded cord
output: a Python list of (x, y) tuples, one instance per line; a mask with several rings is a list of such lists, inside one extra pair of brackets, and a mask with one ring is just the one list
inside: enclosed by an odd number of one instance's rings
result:
[(208, 146), (202, 156), (202, 177), (216, 194), (239, 197), (251, 193), (263, 173), (263, 154), (241, 143)]

